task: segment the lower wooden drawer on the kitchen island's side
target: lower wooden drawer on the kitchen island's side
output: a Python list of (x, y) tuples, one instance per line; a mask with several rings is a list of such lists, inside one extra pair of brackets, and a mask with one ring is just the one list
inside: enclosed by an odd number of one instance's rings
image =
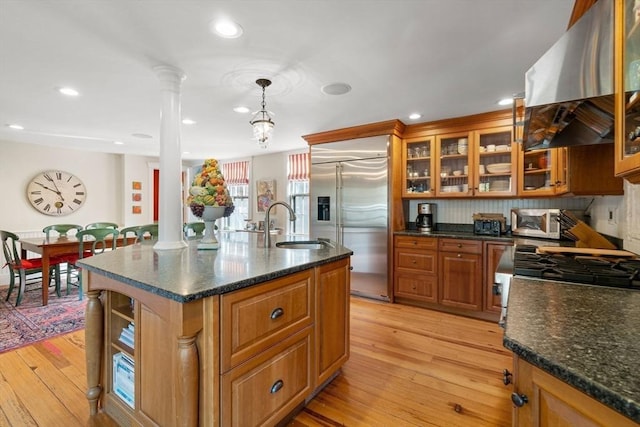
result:
[(304, 329), (222, 376), (221, 425), (273, 425), (304, 401), (312, 388), (311, 331)]

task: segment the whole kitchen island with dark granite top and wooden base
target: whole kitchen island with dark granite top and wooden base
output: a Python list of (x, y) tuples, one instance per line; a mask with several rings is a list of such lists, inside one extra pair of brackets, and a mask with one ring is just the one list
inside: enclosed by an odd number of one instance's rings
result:
[(217, 251), (143, 243), (82, 261), (92, 415), (274, 425), (339, 373), (352, 252), (264, 248), (252, 233), (219, 240)]

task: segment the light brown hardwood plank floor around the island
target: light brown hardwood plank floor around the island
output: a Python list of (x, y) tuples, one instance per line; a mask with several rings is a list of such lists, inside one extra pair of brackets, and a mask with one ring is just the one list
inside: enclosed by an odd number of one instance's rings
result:
[[(0, 426), (113, 426), (89, 420), (84, 332), (0, 354)], [(289, 427), (509, 426), (493, 323), (352, 298), (351, 358)]]

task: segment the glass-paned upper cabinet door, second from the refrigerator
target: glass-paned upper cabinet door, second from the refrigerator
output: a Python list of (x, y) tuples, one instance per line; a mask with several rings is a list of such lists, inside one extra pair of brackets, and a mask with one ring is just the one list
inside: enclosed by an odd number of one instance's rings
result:
[(440, 197), (460, 197), (471, 194), (469, 182), (472, 142), (470, 134), (443, 135), (436, 138), (437, 162), (436, 193)]

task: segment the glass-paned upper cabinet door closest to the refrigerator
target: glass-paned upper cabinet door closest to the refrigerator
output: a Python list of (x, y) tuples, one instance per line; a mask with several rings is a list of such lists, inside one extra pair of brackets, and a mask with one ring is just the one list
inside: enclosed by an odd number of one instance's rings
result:
[(407, 197), (429, 197), (433, 188), (432, 139), (404, 142), (402, 156), (406, 165), (403, 193)]

